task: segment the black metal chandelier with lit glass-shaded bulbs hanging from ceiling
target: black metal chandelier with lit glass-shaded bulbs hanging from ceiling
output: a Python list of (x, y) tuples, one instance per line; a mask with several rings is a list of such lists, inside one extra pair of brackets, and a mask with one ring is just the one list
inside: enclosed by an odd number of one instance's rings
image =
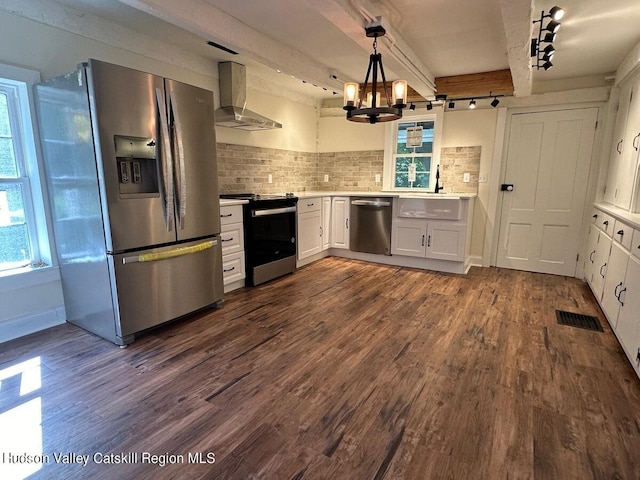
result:
[[(384, 36), (386, 30), (379, 23), (372, 23), (365, 27), (367, 37), (373, 38), (373, 53), (369, 55), (369, 68), (364, 79), (362, 90), (355, 82), (344, 84), (344, 106), (347, 111), (347, 120), (352, 122), (377, 123), (390, 122), (402, 118), (402, 109), (407, 106), (407, 82), (396, 80), (391, 86), (391, 94), (382, 67), (382, 55), (377, 51), (378, 37)], [(378, 72), (382, 77), (378, 83)], [(369, 76), (372, 77), (371, 88), (368, 89)], [(366, 94), (366, 101), (364, 101)], [(384, 94), (382, 106), (381, 94)]]

